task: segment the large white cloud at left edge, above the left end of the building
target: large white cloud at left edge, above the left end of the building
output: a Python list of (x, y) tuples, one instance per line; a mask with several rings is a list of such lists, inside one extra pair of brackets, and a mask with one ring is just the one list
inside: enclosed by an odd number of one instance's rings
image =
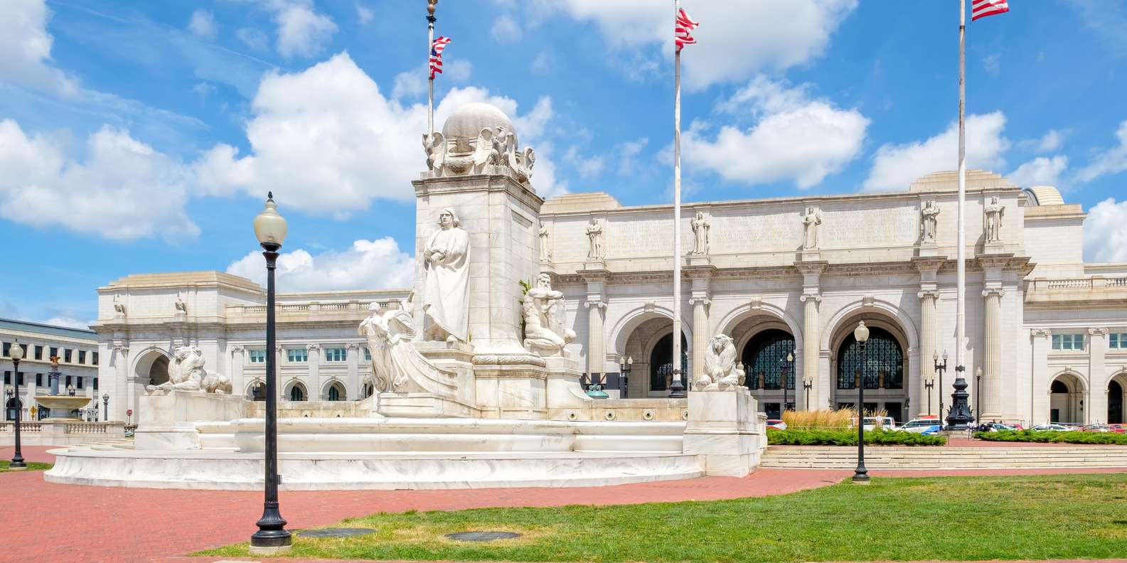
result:
[(78, 161), (62, 141), (27, 136), (16, 122), (0, 120), (0, 199), (8, 202), (0, 216), (119, 241), (199, 234), (184, 212), (187, 167), (109, 126), (87, 145), (86, 160)]

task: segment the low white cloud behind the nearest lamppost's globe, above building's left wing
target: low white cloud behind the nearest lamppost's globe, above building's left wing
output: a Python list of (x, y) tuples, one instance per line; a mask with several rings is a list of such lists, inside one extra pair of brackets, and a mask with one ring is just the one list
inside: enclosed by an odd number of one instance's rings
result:
[[(261, 252), (254, 251), (231, 262), (227, 272), (266, 284)], [(410, 287), (415, 282), (415, 260), (399, 250), (394, 239), (384, 236), (357, 240), (347, 250), (316, 256), (304, 249), (283, 252), (276, 276), (281, 292)]]

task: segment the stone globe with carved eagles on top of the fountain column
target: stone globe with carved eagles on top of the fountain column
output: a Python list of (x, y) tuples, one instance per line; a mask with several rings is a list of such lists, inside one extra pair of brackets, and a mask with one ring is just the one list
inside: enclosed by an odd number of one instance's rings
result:
[(442, 133), (423, 134), (426, 164), (434, 177), (508, 175), (532, 189), (536, 153), (530, 146), (518, 150), (516, 143), (513, 122), (500, 109), (482, 102), (455, 109)]

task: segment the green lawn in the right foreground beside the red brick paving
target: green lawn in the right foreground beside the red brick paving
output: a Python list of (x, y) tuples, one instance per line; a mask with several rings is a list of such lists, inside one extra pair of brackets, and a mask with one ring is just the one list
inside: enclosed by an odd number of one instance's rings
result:
[[(450, 494), (458, 494), (451, 492)], [(283, 513), (285, 512), (285, 507)], [(294, 557), (758, 562), (1099, 558), (1127, 553), (1127, 474), (873, 479), (792, 494), (614, 507), (378, 513)], [(521, 538), (460, 543), (455, 531)], [(247, 545), (197, 555), (247, 556)]]

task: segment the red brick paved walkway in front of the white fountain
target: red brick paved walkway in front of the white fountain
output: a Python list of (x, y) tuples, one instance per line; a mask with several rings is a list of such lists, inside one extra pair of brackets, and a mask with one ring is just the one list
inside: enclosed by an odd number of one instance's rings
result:
[[(25, 447), (28, 461), (51, 462), (47, 447)], [(11, 458), (11, 447), (0, 457)], [(1113, 473), (1093, 470), (1085, 473)], [(1081, 471), (873, 471), (875, 476), (1051, 474)], [(704, 477), (574, 489), (471, 489), (456, 491), (290, 491), (281, 493), (291, 529), (325, 526), (381, 511), (460, 510), (486, 507), (631, 504), (764, 497), (815, 489), (852, 474), (844, 470), (760, 470), (743, 479)], [(0, 530), (5, 561), (177, 561), (194, 551), (243, 542), (261, 515), (261, 493), (79, 486), (43, 481), (42, 472), (0, 474), (5, 507)], [(72, 513), (65, 533), (34, 515)], [(44, 512), (46, 511), (46, 512)]]

